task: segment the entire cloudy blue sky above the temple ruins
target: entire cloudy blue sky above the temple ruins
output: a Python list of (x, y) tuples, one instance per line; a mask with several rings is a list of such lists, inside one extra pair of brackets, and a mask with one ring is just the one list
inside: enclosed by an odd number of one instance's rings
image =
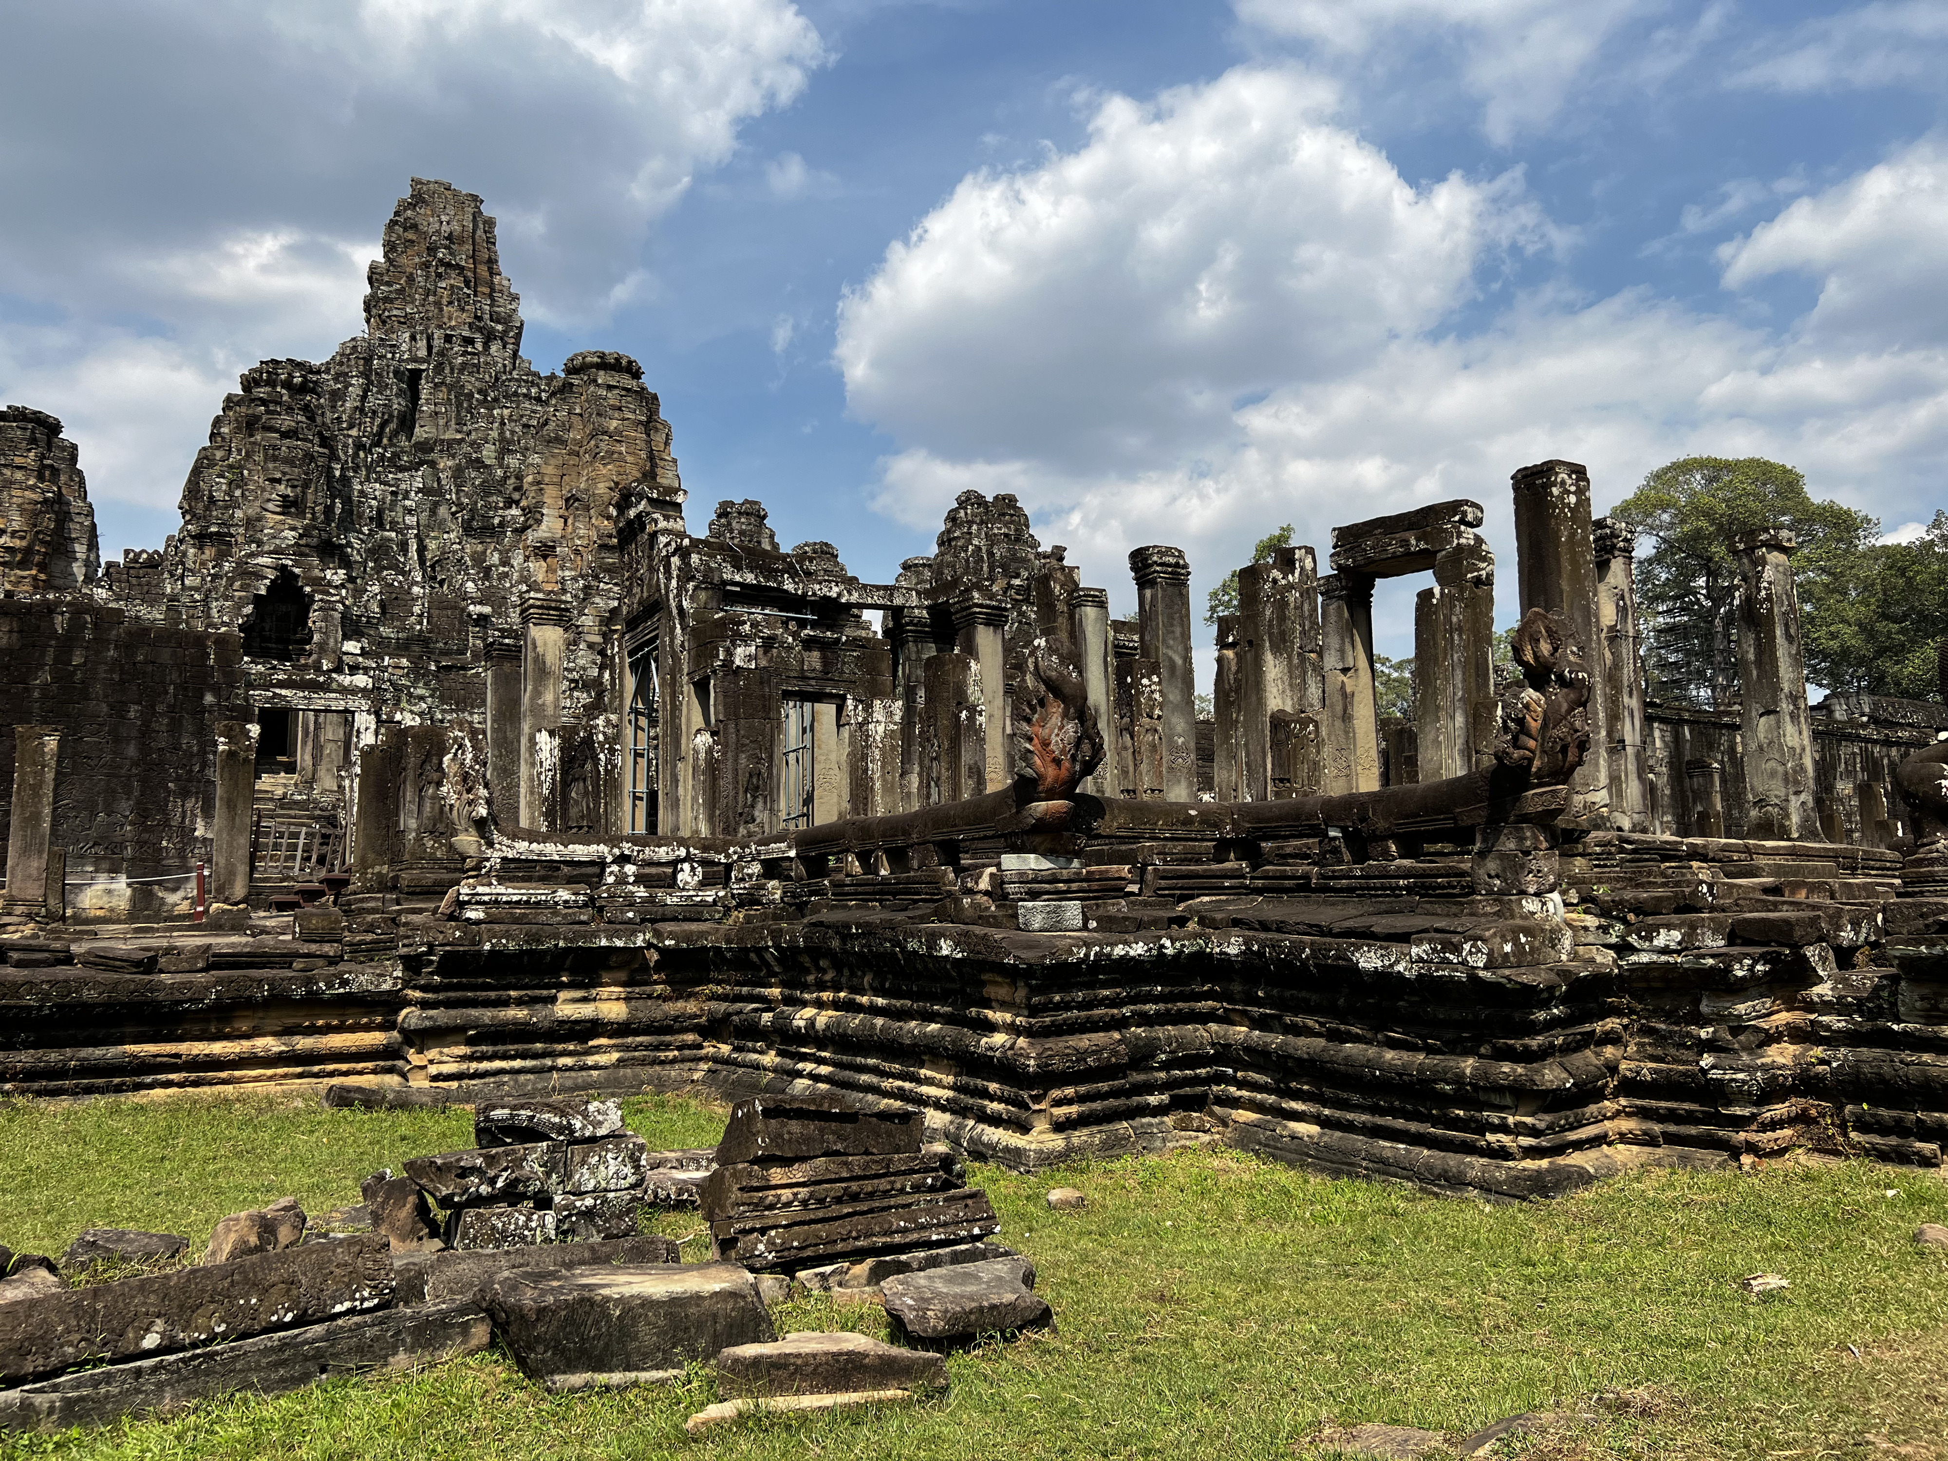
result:
[[(886, 579), (1015, 491), (1118, 610), (1280, 522), (1597, 506), (1761, 454), (1899, 530), (1948, 456), (1948, 6), (362, 0), (8, 6), (0, 397), (156, 545), (265, 356), (358, 329), (407, 177), (526, 355), (643, 360), (699, 526)], [(1418, 584), (1414, 584), (1418, 586)], [(1412, 586), (1379, 600), (1405, 653)], [(1512, 612), (1512, 604), (1504, 604)], [(1208, 635), (1206, 635), (1208, 637)]]

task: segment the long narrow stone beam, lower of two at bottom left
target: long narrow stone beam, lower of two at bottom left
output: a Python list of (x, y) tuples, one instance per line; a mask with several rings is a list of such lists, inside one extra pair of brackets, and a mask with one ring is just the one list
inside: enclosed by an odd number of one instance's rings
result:
[(0, 1430), (103, 1426), (240, 1391), (282, 1395), (333, 1375), (417, 1369), (475, 1354), (491, 1338), (493, 1323), (475, 1303), (384, 1309), (0, 1391)]

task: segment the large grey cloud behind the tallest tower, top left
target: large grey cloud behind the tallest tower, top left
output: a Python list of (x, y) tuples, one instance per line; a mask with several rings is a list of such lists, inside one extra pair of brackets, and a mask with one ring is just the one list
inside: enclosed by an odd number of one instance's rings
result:
[[(0, 88), (0, 279), (64, 323), (8, 331), (0, 388), (76, 423), (90, 370), (160, 421), (181, 370), (329, 353), (413, 175), (487, 201), (530, 319), (600, 319), (655, 290), (655, 220), (824, 62), (789, 0), (72, 0), (8, 43), (74, 60)], [(92, 487), (173, 501), (216, 399), (134, 454), (171, 464), (140, 483), (84, 440)]]

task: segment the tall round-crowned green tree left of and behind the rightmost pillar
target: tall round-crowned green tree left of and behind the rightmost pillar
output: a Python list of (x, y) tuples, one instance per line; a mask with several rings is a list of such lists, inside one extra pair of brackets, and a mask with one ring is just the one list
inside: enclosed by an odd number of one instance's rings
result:
[(1816, 501), (1796, 468), (1757, 456), (1667, 462), (1611, 512), (1650, 540), (1636, 561), (1650, 693), (1691, 705), (1738, 695), (1738, 534), (1790, 528), (1800, 543), (1794, 577), (1816, 606), (1829, 582), (1856, 571), (1880, 532), (1866, 512)]

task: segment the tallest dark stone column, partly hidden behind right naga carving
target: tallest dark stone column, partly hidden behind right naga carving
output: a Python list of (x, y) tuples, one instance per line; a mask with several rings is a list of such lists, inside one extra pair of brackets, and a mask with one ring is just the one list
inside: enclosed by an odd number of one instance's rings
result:
[[(1516, 491), (1516, 579), (1521, 612), (1560, 614), (1595, 676), (1603, 631), (1595, 608), (1595, 543), (1590, 530), (1590, 471), (1576, 462), (1537, 462), (1512, 477)], [(1570, 779), (1572, 814), (1603, 816), (1609, 801), (1609, 725), (1592, 686), (1590, 756)]]

